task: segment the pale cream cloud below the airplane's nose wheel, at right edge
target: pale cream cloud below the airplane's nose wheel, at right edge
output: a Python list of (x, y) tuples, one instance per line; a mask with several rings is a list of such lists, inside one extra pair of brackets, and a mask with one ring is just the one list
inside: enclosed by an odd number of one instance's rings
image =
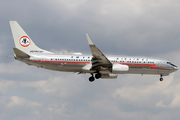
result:
[(157, 106), (162, 108), (180, 108), (180, 84), (174, 84), (173, 76), (170, 75), (166, 77), (165, 81), (158, 81), (151, 85), (133, 85), (118, 88), (113, 96), (137, 107)]

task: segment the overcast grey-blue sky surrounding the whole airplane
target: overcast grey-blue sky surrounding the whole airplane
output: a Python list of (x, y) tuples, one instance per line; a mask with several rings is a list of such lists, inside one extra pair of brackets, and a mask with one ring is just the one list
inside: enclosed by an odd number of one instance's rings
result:
[(85, 33), (104, 54), (162, 58), (180, 66), (179, 0), (0, 0), (1, 120), (172, 120), (180, 118), (179, 71), (118, 75), (49, 71), (6, 58), (17, 21), (40, 48), (91, 54)]

